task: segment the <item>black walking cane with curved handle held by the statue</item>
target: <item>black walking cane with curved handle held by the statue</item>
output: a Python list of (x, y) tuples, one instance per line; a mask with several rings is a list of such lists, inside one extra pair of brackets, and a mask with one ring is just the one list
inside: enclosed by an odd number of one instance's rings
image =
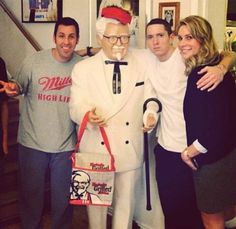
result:
[[(159, 106), (158, 112), (160, 112), (161, 109), (162, 109), (160, 101), (156, 98), (150, 98), (150, 99), (147, 99), (143, 104), (143, 113), (147, 109), (147, 104), (150, 101), (154, 101), (158, 104), (158, 106)], [(148, 133), (147, 132), (145, 132), (143, 134), (143, 140), (144, 140), (143, 148), (144, 148), (145, 177), (146, 177), (146, 198), (147, 198), (146, 210), (150, 211), (150, 210), (152, 210), (152, 206), (151, 206), (151, 193), (150, 193), (150, 168), (149, 168), (149, 149), (148, 149), (149, 144), (148, 144)]]

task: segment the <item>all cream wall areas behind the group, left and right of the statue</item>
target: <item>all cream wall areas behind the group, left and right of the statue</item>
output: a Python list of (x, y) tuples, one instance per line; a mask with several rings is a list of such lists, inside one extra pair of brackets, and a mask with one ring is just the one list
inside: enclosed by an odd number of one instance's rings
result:
[[(12, 10), (21, 22), (21, 1), (2, 0)], [(145, 47), (145, 24), (151, 18), (158, 17), (160, 2), (175, 2), (178, 0), (139, 0), (140, 20), (138, 47)], [(180, 18), (190, 14), (198, 14), (207, 18), (213, 26), (215, 37), (220, 48), (223, 47), (224, 31), (226, 26), (227, 0), (179, 0)], [(215, 10), (220, 9), (220, 10)], [(90, 16), (90, 12), (92, 15)], [(217, 16), (216, 16), (217, 14)], [(80, 41), (77, 49), (88, 45), (96, 46), (95, 21), (96, 0), (64, 0), (63, 16), (75, 18), (80, 24)], [(23, 23), (43, 49), (54, 46), (54, 23)], [(90, 33), (89, 28), (92, 28)], [(25, 56), (34, 52), (28, 41), (21, 35), (6, 13), (0, 9), (0, 55), (6, 60), (10, 73), (15, 73)]]

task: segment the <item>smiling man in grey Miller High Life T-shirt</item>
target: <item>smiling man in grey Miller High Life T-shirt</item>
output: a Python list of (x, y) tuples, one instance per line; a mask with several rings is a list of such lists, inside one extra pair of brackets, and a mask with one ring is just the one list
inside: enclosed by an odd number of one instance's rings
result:
[(45, 174), (50, 169), (52, 228), (70, 228), (68, 205), (71, 152), (76, 141), (68, 102), (79, 26), (72, 18), (55, 25), (55, 48), (27, 58), (15, 82), (5, 83), (9, 96), (23, 94), (19, 123), (20, 216), (24, 229), (39, 228)]

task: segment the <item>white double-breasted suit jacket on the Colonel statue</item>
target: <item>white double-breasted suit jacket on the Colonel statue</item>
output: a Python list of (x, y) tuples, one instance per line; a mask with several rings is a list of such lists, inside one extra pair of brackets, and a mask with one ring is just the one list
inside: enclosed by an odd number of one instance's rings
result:
[[(114, 102), (107, 86), (103, 51), (80, 61), (72, 71), (70, 115), (80, 124), (84, 114), (97, 108), (107, 121), (107, 133), (118, 172), (132, 170), (143, 163), (142, 114), (144, 102), (145, 60), (129, 50), (128, 83)], [(138, 55), (137, 55), (138, 54)], [(111, 76), (112, 77), (112, 76)], [(122, 78), (122, 72), (121, 72)], [(80, 144), (81, 152), (107, 152), (97, 126), (88, 124)]]

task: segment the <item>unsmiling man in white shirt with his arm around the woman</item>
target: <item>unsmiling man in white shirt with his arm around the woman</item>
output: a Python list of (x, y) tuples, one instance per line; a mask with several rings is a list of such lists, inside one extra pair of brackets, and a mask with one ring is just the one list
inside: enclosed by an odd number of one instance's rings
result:
[[(146, 27), (146, 39), (149, 50), (156, 58), (150, 62), (152, 66), (150, 76), (145, 82), (145, 97), (157, 97), (162, 103), (155, 159), (156, 180), (165, 216), (165, 228), (203, 228), (195, 202), (192, 171), (180, 157), (180, 153), (187, 146), (183, 116), (183, 98), (187, 84), (185, 65), (179, 50), (172, 45), (174, 35), (168, 22), (163, 19), (152, 19)], [(202, 87), (208, 78), (209, 82), (213, 82), (209, 90), (214, 89), (221, 82), (226, 66), (230, 66), (231, 62), (231, 56), (226, 56), (217, 67), (204, 68), (201, 73), (208, 73), (196, 87)], [(209, 84), (202, 89), (209, 87)], [(157, 116), (155, 109), (151, 109), (149, 104), (145, 116), (147, 122), (144, 129), (150, 130), (155, 126)], [(199, 151), (204, 151), (198, 142), (196, 147), (200, 148)]]

